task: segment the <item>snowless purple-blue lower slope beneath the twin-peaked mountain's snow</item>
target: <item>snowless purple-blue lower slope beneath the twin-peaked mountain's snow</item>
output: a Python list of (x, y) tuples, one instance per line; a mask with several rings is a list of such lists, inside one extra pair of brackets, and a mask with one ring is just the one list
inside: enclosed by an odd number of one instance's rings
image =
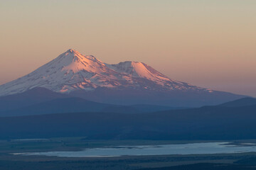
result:
[(101, 103), (119, 105), (149, 104), (185, 108), (218, 105), (244, 97), (222, 91), (206, 93), (204, 91), (149, 91), (147, 89), (106, 88), (98, 88), (95, 91), (72, 91), (70, 95)]

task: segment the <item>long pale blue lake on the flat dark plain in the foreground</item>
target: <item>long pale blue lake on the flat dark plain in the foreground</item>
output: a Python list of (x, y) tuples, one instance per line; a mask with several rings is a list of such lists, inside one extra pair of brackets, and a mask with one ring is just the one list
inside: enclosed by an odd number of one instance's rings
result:
[(256, 144), (230, 145), (229, 142), (203, 142), (176, 145), (139, 145), (87, 148), (81, 151), (27, 152), (21, 155), (54, 157), (122, 157), (166, 154), (232, 154), (256, 152)]

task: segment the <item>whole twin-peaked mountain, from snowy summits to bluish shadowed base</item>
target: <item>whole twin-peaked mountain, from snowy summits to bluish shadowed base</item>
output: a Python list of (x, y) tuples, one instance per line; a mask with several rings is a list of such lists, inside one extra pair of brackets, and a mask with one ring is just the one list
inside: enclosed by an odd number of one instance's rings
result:
[(143, 62), (106, 64), (68, 50), (24, 77), (0, 86), (0, 96), (35, 87), (100, 103), (173, 107), (215, 105), (243, 96), (169, 79)]

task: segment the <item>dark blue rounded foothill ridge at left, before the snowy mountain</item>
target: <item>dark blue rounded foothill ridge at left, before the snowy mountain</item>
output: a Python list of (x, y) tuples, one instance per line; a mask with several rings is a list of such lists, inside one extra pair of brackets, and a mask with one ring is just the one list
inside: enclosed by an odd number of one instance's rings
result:
[(0, 98), (0, 106), (0, 117), (80, 112), (150, 113), (178, 109), (169, 106), (122, 106), (98, 103), (59, 94), (44, 88), (35, 88), (21, 94), (3, 96)]

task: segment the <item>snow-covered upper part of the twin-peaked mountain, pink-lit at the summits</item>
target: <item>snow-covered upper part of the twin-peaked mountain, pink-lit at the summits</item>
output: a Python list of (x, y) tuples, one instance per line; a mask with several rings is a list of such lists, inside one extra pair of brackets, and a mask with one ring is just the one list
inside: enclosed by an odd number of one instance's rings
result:
[(149, 89), (154, 91), (208, 91), (174, 81), (143, 62), (105, 64), (92, 55), (68, 50), (24, 77), (0, 86), (0, 96), (21, 93), (35, 87), (70, 93), (76, 90)]

